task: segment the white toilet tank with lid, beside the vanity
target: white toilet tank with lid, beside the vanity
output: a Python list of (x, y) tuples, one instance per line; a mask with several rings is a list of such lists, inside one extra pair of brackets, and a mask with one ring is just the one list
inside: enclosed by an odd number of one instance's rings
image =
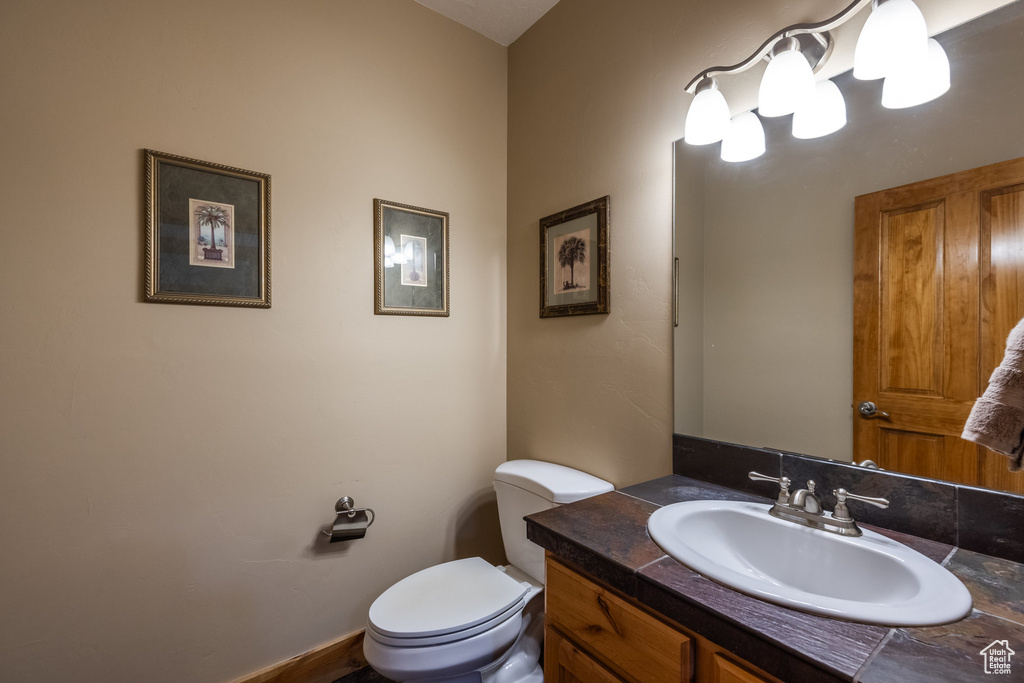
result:
[(526, 540), (523, 517), (564, 503), (614, 490), (614, 486), (570, 467), (539, 460), (510, 460), (495, 470), (498, 518), (509, 562), (544, 583), (544, 549)]

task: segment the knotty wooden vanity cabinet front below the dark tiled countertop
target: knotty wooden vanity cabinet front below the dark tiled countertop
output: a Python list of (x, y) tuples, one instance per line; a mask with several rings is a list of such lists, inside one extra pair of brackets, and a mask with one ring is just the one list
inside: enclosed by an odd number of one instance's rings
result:
[(547, 556), (546, 683), (781, 683)]

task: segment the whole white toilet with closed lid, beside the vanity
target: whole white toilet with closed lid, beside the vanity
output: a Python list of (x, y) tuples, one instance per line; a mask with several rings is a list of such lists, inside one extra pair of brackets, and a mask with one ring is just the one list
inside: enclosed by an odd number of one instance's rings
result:
[(511, 564), (445, 562), (384, 591), (370, 606), (367, 661), (400, 683), (542, 683), (544, 550), (523, 517), (612, 489), (561, 465), (502, 463), (495, 492)]

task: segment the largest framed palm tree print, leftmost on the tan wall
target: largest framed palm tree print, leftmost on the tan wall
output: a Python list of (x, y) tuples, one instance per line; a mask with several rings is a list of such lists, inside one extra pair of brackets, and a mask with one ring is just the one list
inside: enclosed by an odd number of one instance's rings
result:
[(145, 150), (145, 300), (270, 307), (270, 176)]

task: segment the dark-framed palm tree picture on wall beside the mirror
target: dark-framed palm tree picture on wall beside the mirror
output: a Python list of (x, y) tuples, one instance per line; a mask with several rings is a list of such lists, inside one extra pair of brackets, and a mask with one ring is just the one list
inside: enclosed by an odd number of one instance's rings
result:
[(608, 197), (541, 219), (541, 317), (609, 311)]

